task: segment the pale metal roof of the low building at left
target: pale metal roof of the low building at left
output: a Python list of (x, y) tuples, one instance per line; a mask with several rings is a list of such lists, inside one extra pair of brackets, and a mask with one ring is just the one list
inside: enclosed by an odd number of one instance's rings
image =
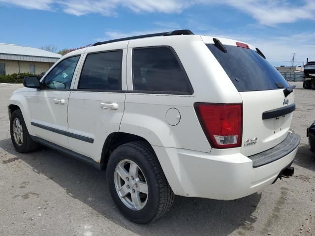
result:
[(62, 55), (38, 48), (0, 43), (0, 59), (56, 62)]

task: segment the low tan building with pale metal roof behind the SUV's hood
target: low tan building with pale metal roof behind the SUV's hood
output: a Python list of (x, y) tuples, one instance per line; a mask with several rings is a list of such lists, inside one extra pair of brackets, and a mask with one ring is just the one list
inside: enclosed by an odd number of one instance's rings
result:
[(46, 72), (62, 56), (45, 50), (0, 43), (0, 75)]

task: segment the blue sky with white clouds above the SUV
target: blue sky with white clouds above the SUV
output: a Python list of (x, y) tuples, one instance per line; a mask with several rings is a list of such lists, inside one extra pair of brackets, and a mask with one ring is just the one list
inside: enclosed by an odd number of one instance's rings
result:
[(76, 48), (174, 29), (243, 40), (273, 65), (315, 60), (315, 0), (0, 0), (0, 42)]

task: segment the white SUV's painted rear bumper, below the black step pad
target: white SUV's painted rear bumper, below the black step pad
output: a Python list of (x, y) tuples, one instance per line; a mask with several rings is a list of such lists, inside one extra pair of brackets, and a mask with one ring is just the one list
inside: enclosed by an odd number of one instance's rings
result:
[(222, 156), (176, 148), (154, 149), (175, 194), (233, 200), (273, 183), (293, 161), (298, 147), (256, 168), (253, 168), (253, 161), (241, 153)]

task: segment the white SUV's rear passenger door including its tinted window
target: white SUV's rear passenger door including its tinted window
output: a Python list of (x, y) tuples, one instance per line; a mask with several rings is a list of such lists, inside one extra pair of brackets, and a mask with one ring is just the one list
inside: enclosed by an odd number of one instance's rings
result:
[(119, 131), (123, 117), (126, 96), (124, 46), (127, 47), (127, 42), (116, 48), (100, 46), (104, 51), (99, 51), (99, 46), (88, 48), (76, 89), (69, 97), (69, 146), (95, 161), (101, 157), (107, 136)]

